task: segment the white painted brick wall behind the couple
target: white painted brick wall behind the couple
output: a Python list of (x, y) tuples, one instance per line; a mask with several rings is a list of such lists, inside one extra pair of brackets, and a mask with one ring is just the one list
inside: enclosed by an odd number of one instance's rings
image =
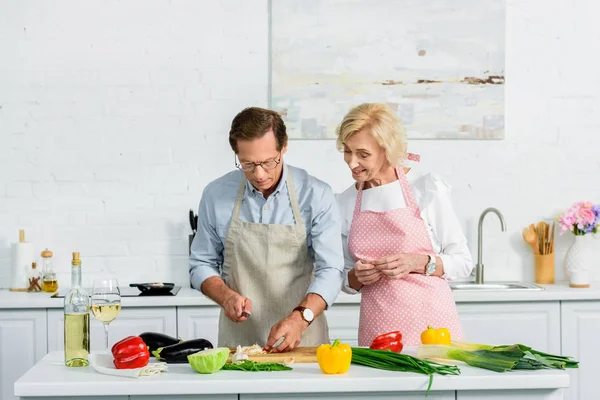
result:
[[(521, 229), (600, 202), (600, 39), (592, 0), (507, 0), (506, 137), (413, 141), (453, 185), (488, 279), (533, 279)], [(0, 2), (0, 287), (24, 228), (68, 285), (187, 284), (187, 211), (233, 167), (233, 116), (268, 104), (268, 1)], [(292, 141), (288, 162), (336, 191), (351, 183), (333, 141)], [(557, 278), (571, 237), (557, 242)], [(596, 276), (600, 278), (600, 273)]]

